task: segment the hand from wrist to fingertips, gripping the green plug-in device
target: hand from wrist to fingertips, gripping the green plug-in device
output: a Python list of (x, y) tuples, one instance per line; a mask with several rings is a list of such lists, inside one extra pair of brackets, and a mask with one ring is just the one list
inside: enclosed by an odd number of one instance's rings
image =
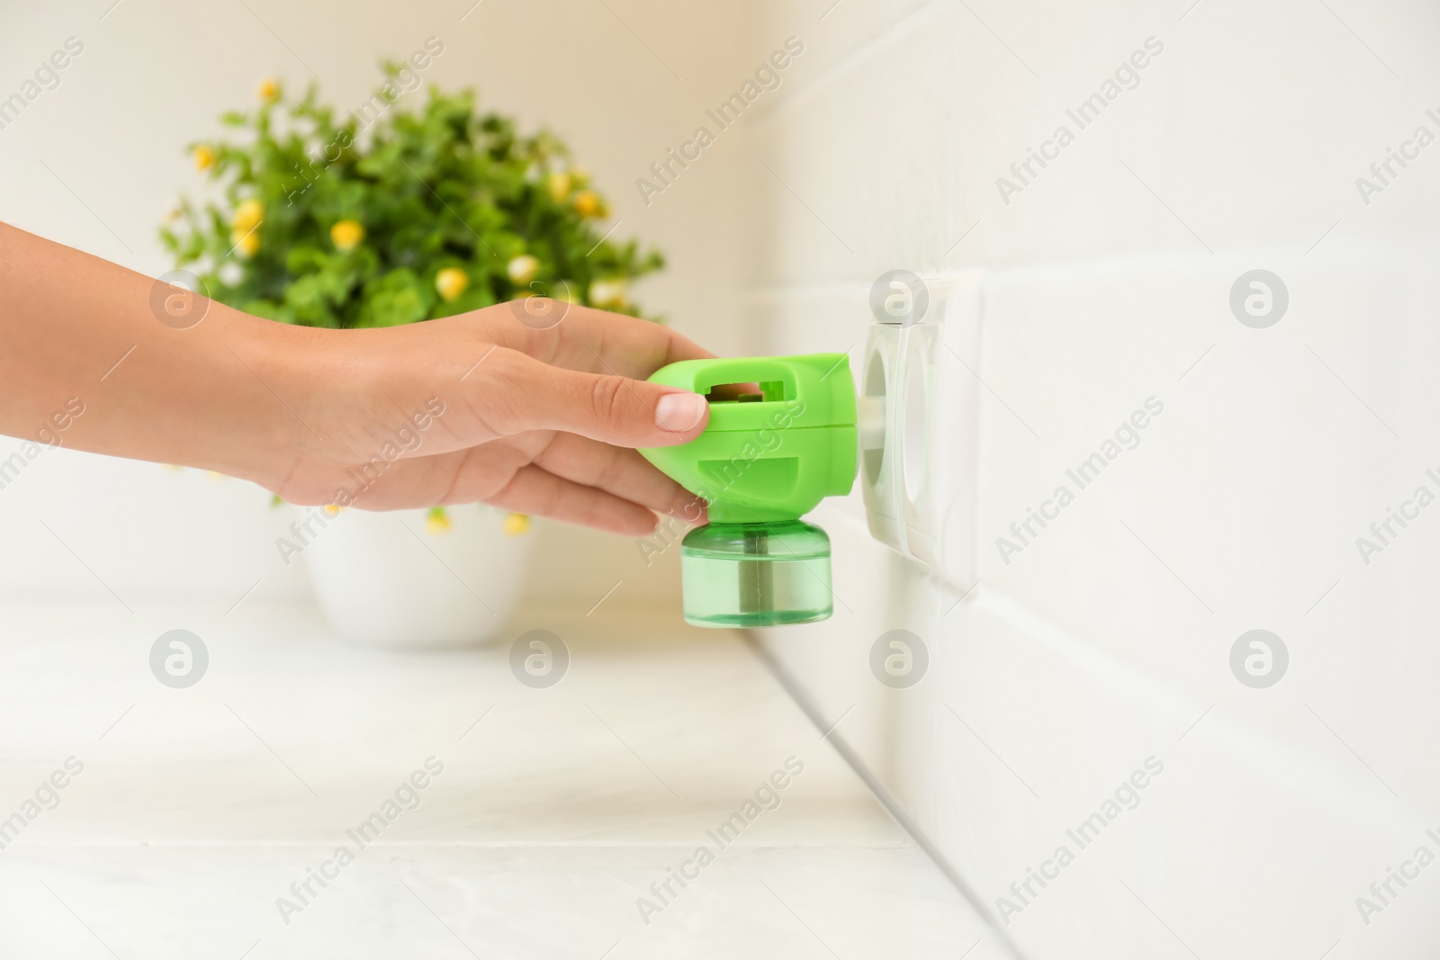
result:
[(700, 518), (703, 504), (631, 448), (704, 429), (704, 397), (644, 377), (710, 354), (642, 320), (550, 307), (564, 315), (547, 328), (500, 304), (386, 330), (279, 328), (284, 343), (253, 357), (236, 347), (289, 384), (276, 393), (302, 427), (268, 485), (295, 504), (482, 501), (632, 535), (655, 512)]

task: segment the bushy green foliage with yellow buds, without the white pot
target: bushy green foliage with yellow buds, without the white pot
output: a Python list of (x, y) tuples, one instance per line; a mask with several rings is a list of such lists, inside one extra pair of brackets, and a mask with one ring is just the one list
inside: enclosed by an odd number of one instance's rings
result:
[[(281, 94), (222, 115), (238, 142), (192, 147), (222, 199), (181, 201), (176, 222), (160, 230), (177, 265), (194, 265), (222, 302), (338, 328), (560, 295), (562, 281), (589, 302), (596, 281), (615, 289), (609, 282), (664, 266), (658, 252), (641, 253), (634, 240), (600, 240), (603, 200), (549, 131), (520, 135), (513, 119), (478, 114), (469, 91), (431, 88), (413, 112), (399, 102), (405, 96), (420, 94), (382, 85), (337, 122), (311, 86), (294, 102)], [(589, 193), (577, 201), (582, 191)], [(236, 219), (249, 201), (264, 209), (253, 230)], [(507, 271), (524, 255), (539, 261), (533, 272)], [(436, 285), (446, 268), (464, 275), (442, 284), (448, 301)], [(609, 308), (638, 315), (628, 304)]]

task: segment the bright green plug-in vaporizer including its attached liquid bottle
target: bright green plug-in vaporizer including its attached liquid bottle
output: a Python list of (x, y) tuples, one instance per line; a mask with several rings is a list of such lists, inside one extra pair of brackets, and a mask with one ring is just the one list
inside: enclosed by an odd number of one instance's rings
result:
[(855, 481), (848, 357), (684, 360), (651, 381), (710, 400), (704, 433), (641, 450), (710, 507), (710, 524), (680, 547), (685, 620), (776, 626), (828, 617), (829, 537), (801, 517)]

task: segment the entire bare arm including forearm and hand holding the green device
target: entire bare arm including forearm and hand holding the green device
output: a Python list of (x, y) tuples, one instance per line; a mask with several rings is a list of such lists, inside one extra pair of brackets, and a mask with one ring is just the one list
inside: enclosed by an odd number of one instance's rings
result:
[(708, 417), (704, 397), (644, 380), (708, 356), (664, 327), (585, 307), (541, 324), (501, 304), (310, 330), (203, 299), (177, 322), (173, 295), (0, 225), (0, 433), (32, 440), (27, 456), (183, 463), (297, 504), (484, 501), (624, 534), (654, 512), (703, 515), (631, 449), (690, 440)]

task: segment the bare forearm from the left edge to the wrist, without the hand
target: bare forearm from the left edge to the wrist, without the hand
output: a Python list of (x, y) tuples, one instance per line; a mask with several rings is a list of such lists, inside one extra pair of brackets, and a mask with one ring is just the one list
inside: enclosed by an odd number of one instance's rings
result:
[(0, 225), (0, 433), (274, 486), (304, 443), (276, 396), (301, 331), (217, 302), (177, 330), (154, 285)]

